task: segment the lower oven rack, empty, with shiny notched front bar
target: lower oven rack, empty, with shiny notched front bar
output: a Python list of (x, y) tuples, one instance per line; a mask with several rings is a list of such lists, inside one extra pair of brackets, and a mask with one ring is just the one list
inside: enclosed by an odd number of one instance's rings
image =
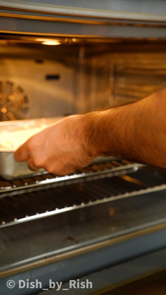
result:
[(0, 227), (62, 214), (104, 202), (166, 189), (166, 177), (148, 168), (126, 175), (102, 178), (37, 191), (9, 192), (0, 199)]

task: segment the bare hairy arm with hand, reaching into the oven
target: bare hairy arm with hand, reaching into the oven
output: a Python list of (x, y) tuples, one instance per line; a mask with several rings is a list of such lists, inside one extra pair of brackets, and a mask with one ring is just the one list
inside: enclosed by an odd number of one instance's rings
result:
[(166, 168), (166, 89), (126, 106), (69, 116), (15, 153), (29, 168), (67, 174), (112, 155)]

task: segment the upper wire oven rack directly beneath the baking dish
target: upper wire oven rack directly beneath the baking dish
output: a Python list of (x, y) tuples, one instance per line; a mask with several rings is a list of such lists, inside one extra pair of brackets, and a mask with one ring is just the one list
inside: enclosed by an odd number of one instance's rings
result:
[(65, 176), (55, 176), (51, 173), (44, 173), (35, 177), (17, 179), (13, 181), (0, 180), (0, 198), (6, 196), (11, 191), (36, 189), (48, 189), (50, 186), (64, 186), (71, 183), (97, 180), (112, 176), (118, 176), (129, 172), (135, 172), (144, 165), (131, 163), (127, 160), (116, 159), (105, 163), (89, 165), (76, 171), (74, 174)]

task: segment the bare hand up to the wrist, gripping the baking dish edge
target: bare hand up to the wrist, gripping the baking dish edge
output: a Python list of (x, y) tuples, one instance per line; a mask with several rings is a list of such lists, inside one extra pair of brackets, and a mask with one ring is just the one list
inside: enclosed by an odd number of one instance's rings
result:
[(19, 162), (28, 160), (33, 171), (66, 175), (89, 165), (95, 158), (86, 138), (84, 115), (66, 117), (30, 137), (15, 152)]

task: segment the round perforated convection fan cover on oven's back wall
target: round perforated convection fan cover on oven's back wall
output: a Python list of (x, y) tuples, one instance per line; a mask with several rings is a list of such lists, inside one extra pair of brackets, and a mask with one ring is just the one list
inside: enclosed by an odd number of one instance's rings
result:
[(21, 86), (0, 81), (0, 121), (27, 119), (28, 98)]

